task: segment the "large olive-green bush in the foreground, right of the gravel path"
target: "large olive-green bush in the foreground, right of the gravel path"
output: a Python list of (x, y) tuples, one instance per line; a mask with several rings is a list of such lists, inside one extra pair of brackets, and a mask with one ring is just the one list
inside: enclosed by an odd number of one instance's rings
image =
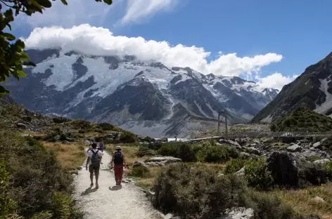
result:
[(153, 206), (183, 218), (216, 218), (221, 211), (244, 202), (245, 181), (236, 175), (217, 177), (207, 166), (170, 164), (153, 186)]

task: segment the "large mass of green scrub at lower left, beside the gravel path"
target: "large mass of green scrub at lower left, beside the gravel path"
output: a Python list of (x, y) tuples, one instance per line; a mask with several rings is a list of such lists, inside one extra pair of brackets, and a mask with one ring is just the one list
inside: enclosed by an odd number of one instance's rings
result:
[[(0, 133), (0, 160), (4, 160), (9, 175), (7, 191), (17, 203), (17, 213), (31, 218), (41, 211), (54, 214), (53, 194), (61, 192), (70, 199), (71, 179), (56, 159), (34, 138), (22, 138), (14, 133)], [(79, 218), (79, 211), (71, 204), (70, 218)], [(53, 218), (57, 218), (53, 215)]]

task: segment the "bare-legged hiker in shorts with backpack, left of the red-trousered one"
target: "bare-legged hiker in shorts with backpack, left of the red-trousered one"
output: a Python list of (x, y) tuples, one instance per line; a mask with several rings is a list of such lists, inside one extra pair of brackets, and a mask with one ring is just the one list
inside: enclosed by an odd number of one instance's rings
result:
[(100, 150), (97, 149), (97, 144), (92, 143), (92, 149), (87, 152), (87, 166), (85, 167), (90, 172), (91, 185), (94, 186), (94, 175), (96, 177), (96, 189), (98, 189), (98, 177), (99, 177), (99, 169), (101, 168), (101, 158), (103, 154)]

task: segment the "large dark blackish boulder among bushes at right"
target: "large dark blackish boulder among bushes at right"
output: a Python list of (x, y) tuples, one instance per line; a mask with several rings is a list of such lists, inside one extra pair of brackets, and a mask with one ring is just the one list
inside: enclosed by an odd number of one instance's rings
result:
[(274, 184), (281, 187), (298, 187), (298, 159), (289, 152), (273, 152), (267, 159)]

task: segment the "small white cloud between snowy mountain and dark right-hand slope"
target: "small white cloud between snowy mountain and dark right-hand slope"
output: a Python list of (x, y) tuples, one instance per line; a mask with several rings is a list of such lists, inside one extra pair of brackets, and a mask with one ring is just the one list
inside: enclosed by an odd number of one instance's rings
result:
[(279, 91), (281, 91), (281, 88), (285, 86), (286, 84), (289, 84), (290, 82), (294, 81), (298, 75), (293, 76), (284, 76), (281, 73), (274, 73), (269, 74), (267, 77), (256, 77), (258, 80), (257, 84), (260, 85), (262, 88), (276, 88)]

